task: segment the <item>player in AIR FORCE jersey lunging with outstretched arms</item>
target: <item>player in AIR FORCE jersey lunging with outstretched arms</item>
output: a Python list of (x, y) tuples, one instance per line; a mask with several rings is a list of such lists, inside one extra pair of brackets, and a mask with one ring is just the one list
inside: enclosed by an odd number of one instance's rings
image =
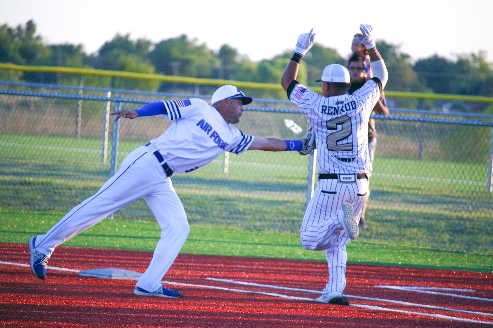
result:
[(212, 94), (211, 105), (202, 99), (158, 101), (138, 110), (121, 110), (124, 117), (162, 114), (174, 121), (159, 137), (132, 151), (118, 172), (93, 196), (70, 210), (45, 235), (31, 237), (31, 268), (44, 279), (47, 261), (56, 246), (143, 197), (162, 231), (149, 267), (139, 278), (134, 294), (177, 298), (178, 291), (161, 285), (163, 275), (175, 261), (185, 242), (189, 226), (175, 189), (174, 173), (196, 170), (223, 151), (241, 154), (248, 149), (271, 151), (301, 150), (304, 140), (281, 140), (250, 136), (230, 124), (238, 123), (243, 105), (252, 98), (234, 86), (223, 86)]

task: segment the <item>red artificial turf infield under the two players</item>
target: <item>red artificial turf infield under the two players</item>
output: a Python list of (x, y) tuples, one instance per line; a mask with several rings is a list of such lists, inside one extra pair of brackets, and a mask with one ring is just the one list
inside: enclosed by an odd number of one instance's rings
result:
[[(27, 245), (0, 244), (0, 250), (0, 261), (29, 264)], [(125, 268), (143, 272), (151, 256), (151, 252), (141, 251), (58, 247), (48, 265), (79, 270)], [(401, 285), (475, 289), (474, 293), (448, 293), (491, 299), (492, 276), (467, 271), (349, 264), (345, 294), (493, 313), (493, 301), (374, 287)], [(319, 296), (215, 282), (207, 280), (207, 277), (321, 291), (327, 279), (327, 265), (315, 261), (180, 254), (163, 279), (295, 297)], [(180, 291), (182, 297), (177, 299), (142, 297), (133, 294), (135, 281), (87, 278), (50, 269), (46, 279), (40, 280), (31, 268), (11, 265), (0, 265), (0, 286), (0, 327), (489, 327), (418, 314), (189, 286), (168, 286)], [(493, 323), (492, 316), (374, 300), (349, 300), (356, 304)]]

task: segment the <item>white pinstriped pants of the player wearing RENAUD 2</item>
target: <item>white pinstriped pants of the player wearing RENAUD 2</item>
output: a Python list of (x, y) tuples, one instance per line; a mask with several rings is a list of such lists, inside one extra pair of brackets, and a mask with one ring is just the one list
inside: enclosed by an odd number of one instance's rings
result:
[(338, 220), (338, 215), (344, 215), (341, 204), (352, 205), (354, 219), (358, 222), (367, 190), (367, 179), (357, 179), (355, 183), (319, 179), (305, 211), (300, 229), (301, 245), (309, 250), (325, 250), (329, 281), (324, 294), (342, 293), (346, 288), (346, 244), (351, 239)]

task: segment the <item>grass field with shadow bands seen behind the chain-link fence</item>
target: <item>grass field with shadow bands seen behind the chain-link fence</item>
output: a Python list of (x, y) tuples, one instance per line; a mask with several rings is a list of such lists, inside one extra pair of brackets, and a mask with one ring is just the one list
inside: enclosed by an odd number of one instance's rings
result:
[[(121, 141), (119, 161), (141, 145)], [(100, 148), (99, 139), (0, 134), (0, 206), (67, 212), (108, 179)], [(229, 163), (228, 174), (219, 157), (173, 177), (189, 222), (296, 235), (305, 209), (308, 157), (254, 150), (230, 154)], [(376, 157), (375, 168), (369, 229), (358, 242), (493, 252), (493, 197), (482, 182), (485, 165)], [(142, 199), (115, 217), (153, 220)]]

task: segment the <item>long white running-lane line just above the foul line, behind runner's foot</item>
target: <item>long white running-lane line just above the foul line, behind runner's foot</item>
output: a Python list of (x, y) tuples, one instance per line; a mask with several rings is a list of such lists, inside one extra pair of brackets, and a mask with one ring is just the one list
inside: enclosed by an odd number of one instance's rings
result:
[[(217, 278), (206, 278), (206, 279), (212, 280), (212, 281), (229, 282), (229, 283), (233, 283), (233, 284), (246, 285), (246, 286), (266, 287), (266, 288), (274, 288), (274, 289), (284, 289), (284, 290), (289, 290), (289, 291), (300, 291), (300, 292), (322, 294), (320, 291), (316, 291), (313, 289), (302, 289), (302, 288), (281, 287), (281, 286), (275, 286), (275, 285), (264, 285), (264, 284), (257, 284), (257, 283), (253, 283), (253, 282), (230, 280), (230, 279), (217, 279)], [(449, 288), (449, 289), (453, 289), (453, 288)], [(458, 289), (458, 290), (460, 290), (460, 289)], [(471, 291), (471, 290), (467, 289), (466, 291)], [(462, 312), (462, 313), (469, 313), (469, 314), (480, 314), (480, 315), (486, 315), (486, 316), (492, 316), (493, 317), (493, 313), (459, 310), (459, 309), (454, 309), (454, 308), (450, 308), (450, 307), (441, 307), (441, 306), (426, 305), (426, 304), (420, 304), (420, 303), (411, 303), (411, 302), (386, 299), (386, 298), (369, 298), (369, 297), (364, 297), (364, 296), (353, 296), (353, 295), (347, 295), (347, 294), (344, 294), (344, 295), (346, 297), (349, 297), (349, 298), (359, 298), (359, 299), (374, 300), (374, 301), (394, 303), (394, 304), (400, 304), (400, 305), (418, 306), (418, 307), (424, 307), (424, 308), (435, 309), (435, 310), (445, 310), (445, 311)], [(351, 305), (353, 305), (353, 304), (351, 304)]]

